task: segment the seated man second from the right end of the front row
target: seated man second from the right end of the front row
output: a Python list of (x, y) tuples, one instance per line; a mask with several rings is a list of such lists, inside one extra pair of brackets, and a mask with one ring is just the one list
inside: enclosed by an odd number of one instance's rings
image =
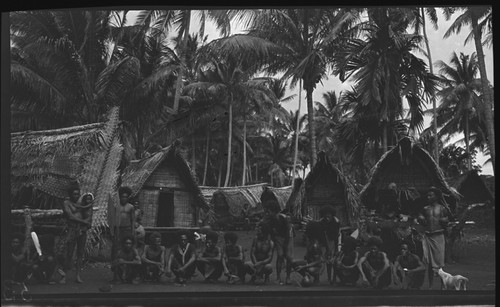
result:
[(391, 283), (391, 271), (387, 255), (380, 251), (382, 240), (371, 237), (368, 240), (367, 251), (358, 262), (358, 269), (363, 277), (363, 283), (369, 283), (375, 289), (382, 289)]

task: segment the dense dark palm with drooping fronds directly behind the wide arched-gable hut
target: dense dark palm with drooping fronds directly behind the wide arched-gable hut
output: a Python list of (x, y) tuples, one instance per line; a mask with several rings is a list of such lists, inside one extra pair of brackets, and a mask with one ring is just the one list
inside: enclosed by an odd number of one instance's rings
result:
[[(335, 72), (342, 81), (352, 77), (355, 91), (363, 107), (358, 111), (375, 116), (382, 130), (382, 148), (388, 149), (389, 127), (405, 117), (403, 97), (409, 105), (406, 115), (410, 129), (421, 129), (422, 106), (432, 96), (435, 77), (425, 63), (411, 51), (418, 47), (421, 36), (407, 34), (411, 19), (398, 8), (373, 8), (369, 19), (358, 25), (365, 39), (351, 39), (339, 52)], [(371, 106), (369, 106), (371, 105)]]

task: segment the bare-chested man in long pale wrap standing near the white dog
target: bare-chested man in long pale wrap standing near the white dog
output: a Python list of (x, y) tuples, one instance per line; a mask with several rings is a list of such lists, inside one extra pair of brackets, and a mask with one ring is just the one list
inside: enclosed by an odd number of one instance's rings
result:
[(437, 270), (444, 266), (444, 230), (451, 215), (449, 210), (440, 204), (441, 191), (431, 187), (427, 193), (428, 205), (418, 216), (418, 221), (423, 225), (425, 233), (422, 239), (424, 250), (423, 262), (428, 270), (429, 288), (432, 288), (433, 277)]

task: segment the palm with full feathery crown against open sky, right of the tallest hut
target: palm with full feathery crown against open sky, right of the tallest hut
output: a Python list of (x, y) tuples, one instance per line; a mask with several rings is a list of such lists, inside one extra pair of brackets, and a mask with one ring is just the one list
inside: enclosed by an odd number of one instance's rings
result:
[(454, 52), (450, 64), (443, 61), (436, 63), (443, 84), (443, 89), (438, 92), (443, 101), (438, 108), (437, 121), (442, 127), (439, 134), (453, 135), (458, 131), (464, 133), (465, 152), (469, 156), (468, 166), (471, 170), (469, 119), (472, 113), (478, 114), (479, 118), (484, 114), (480, 112), (481, 80), (476, 78), (479, 69), (477, 57), (475, 53), (471, 56), (460, 53), (459, 57)]

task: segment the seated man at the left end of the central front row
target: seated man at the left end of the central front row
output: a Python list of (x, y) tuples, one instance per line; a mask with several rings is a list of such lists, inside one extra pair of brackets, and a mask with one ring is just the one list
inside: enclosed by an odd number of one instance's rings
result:
[(126, 236), (123, 238), (122, 247), (118, 250), (116, 258), (111, 264), (111, 271), (114, 274), (113, 281), (139, 283), (141, 257), (133, 244), (133, 237)]

